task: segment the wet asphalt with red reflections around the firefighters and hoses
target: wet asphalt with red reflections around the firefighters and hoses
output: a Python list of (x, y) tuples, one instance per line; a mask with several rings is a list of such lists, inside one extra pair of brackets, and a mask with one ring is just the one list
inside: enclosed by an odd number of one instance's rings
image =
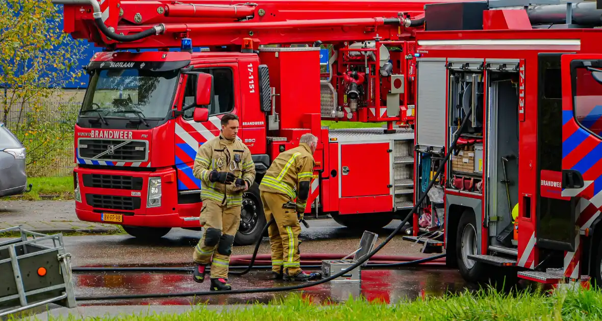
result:
[[(308, 221), (310, 228), (302, 227), (300, 239), (302, 253), (350, 254), (359, 245), (363, 231), (342, 227), (325, 220)], [(400, 221), (375, 231), (377, 244), (399, 225)], [(405, 229), (402, 228), (402, 231)], [(67, 252), (72, 254), (72, 267), (78, 266), (191, 266), (193, 247), (200, 231), (173, 229), (160, 240), (153, 242), (135, 239), (129, 235), (69, 236), (64, 237)], [(394, 237), (380, 255), (408, 255), (429, 257), (436, 254), (421, 253), (421, 245), (402, 240), (402, 233)], [(253, 246), (235, 246), (232, 255), (252, 254)], [(262, 240), (259, 254), (269, 254), (267, 237)], [(290, 283), (270, 280), (268, 270), (255, 270), (241, 277), (232, 276), (233, 289), (258, 289), (282, 287)], [(209, 290), (205, 283), (195, 283), (191, 272), (74, 272), (72, 276), (75, 296), (130, 295), (146, 293), (178, 293)], [(314, 302), (340, 302), (349, 296), (363, 296), (368, 300), (387, 303), (425, 296), (441, 296), (446, 292), (462, 292), (472, 289), (462, 280), (458, 271), (444, 266), (425, 268), (364, 269), (361, 282), (330, 282), (303, 289), (303, 296)], [(119, 301), (79, 301), (86, 305), (190, 305), (206, 303), (214, 305), (268, 303), (285, 298), (291, 292), (253, 293), (241, 295), (215, 295), (157, 299), (131, 299)]]

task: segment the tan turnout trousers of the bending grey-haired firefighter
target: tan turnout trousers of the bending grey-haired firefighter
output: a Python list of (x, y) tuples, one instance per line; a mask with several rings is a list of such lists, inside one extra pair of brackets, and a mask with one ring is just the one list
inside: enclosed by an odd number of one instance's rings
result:
[(274, 218), (275, 223), (268, 227), (272, 248), (272, 271), (296, 275), (301, 271), (299, 255), (299, 233), (301, 227), (294, 209), (283, 209), (289, 201), (287, 195), (261, 191), (261, 203), (267, 222)]

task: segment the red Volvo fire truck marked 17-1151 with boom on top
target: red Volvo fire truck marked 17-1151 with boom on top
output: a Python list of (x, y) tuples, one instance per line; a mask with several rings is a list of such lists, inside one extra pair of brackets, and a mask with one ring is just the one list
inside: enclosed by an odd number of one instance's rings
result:
[[(85, 67), (75, 126), (79, 219), (137, 237), (199, 228), (191, 167), (226, 112), (240, 117), (257, 183), (303, 133), (318, 136), (306, 218), (383, 227), (411, 209), (414, 132), (395, 124), (413, 124), (415, 17), (430, 1), (53, 2), (64, 4), (64, 32), (106, 48)], [(321, 120), (387, 127), (329, 130)], [(264, 225), (255, 184), (235, 243), (255, 242)]]

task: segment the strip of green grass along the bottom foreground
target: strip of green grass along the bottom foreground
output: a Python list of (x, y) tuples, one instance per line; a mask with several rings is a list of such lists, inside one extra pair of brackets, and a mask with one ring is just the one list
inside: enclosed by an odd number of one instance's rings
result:
[[(555, 292), (520, 292), (501, 294), (494, 290), (460, 293), (442, 298), (417, 299), (387, 305), (349, 299), (342, 304), (312, 304), (299, 293), (268, 305), (252, 305), (238, 309), (212, 311), (198, 305), (182, 314), (123, 314), (87, 320), (600, 320), (602, 292), (579, 290)], [(78, 316), (49, 320), (75, 320)]]

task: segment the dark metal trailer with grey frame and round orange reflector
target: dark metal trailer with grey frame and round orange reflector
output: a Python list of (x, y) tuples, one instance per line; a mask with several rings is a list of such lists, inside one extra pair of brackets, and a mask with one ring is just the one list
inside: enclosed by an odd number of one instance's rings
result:
[(20, 226), (0, 233), (10, 231), (19, 231), (20, 237), (0, 242), (0, 316), (49, 303), (76, 307), (63, 234), (49, 236)]

